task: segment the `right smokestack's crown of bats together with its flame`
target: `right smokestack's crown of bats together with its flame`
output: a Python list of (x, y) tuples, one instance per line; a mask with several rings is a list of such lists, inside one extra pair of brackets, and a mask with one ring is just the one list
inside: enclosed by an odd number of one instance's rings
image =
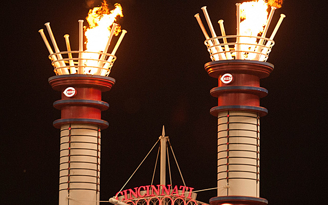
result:
[[(277, 8), (280, 8), (281, 0), (264, 0), (244, 2), (236, 4), (237, 9), (237, 33), (236, 35), (226, 35), (223, 26), (223, 20), (219, 20), (218, 24), (221, 30), (221, 36), (216, 36), (210, 16), (206, 6), (202, 7), (202, 11), (206, 18), (211, 37), (202, 24), (199, 14), (195, 15), (197, 22), (206, 38), (204, 44), (207, 46), (212, 61), (229, 60), (229, 59), (245, 59), (267, 61), (269, 53), (274, 46), (273, 38), (285, 17), (280, 15), (280, 19), (272, 32), (271, 36), (266, 37), (273, 14)], [(271, 11), (268, 17), (268, 8)]]

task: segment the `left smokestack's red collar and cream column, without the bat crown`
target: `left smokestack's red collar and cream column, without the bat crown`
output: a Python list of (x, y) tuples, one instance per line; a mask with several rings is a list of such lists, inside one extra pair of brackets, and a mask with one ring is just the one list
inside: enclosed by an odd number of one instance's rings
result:
[(109, 107), (101, 93), (109, 91), (115, 79), (71, 74), (48, 81), (61, 92), (53, 104), (61, 112), (53, 122), (60, 129), (59, 204), (99, 204), (101, 129), (108, 127), (101, 111)]

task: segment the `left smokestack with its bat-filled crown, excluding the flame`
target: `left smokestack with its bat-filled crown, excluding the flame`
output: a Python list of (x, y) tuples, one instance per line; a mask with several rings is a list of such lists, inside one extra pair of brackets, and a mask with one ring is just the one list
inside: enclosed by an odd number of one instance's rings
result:
[[(53, 53), (43, 30), (39, 30), (56, 73), (48, 79), (49, 84), (61, 93), (61, 99), (53, 103), (61, 112), (60, 119), (53, 122), (53, 126), (60, 129), (59, 205), (99, 204), (101, 130), (109, 125), (101, 119), (101, 111), (109, 108), (109, 104), (101, 100), (101, 93), (111, 90), (115, 84), (115, 79), (108, 74), (122, 40), (121, 37), (114, 54), (108, 54), (108, 48), (98, 53), (83, 51), (83, 20), (78, 22), (78, 51), (71, 51), (68, 35), (65, 35), (68, 51), (60, 52), (47, 23), (56, 51)], [(95, 58), (84, 59), (83, 56), (88, 55)], [(104, 67), (106, 63), (109, 65)], [(87, 74), (86, 68), (92, 68), (95, 73)]]

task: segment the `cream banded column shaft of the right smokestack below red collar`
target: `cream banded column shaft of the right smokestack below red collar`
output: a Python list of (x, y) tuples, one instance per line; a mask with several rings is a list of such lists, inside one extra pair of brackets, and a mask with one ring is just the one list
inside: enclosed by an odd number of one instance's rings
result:
[(221, 112), (217, 136), (218, 196), (259, 197), (259, 116), (241, 111)]

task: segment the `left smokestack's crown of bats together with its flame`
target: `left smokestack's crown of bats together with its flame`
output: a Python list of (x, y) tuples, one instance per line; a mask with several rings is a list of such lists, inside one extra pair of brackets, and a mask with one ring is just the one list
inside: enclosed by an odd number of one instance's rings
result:
[[(44, 30), (40, 29), (38, 31), (50, 53), (49, 58), (52, 61), (56, 75), (109, 75), (111, 67), (116, 60), (115, 53), (124, 35), (127, 33), (126, 30), (121, 30), (120, 26), (115, 23), (118, 16), (123, 17), (122, 7), (120, 4), (115, 4), (114, 6), (115, 8), (113, 10), (109, 10), (106, 1), (104, 1), (100, 7), (90, 9), (86, 18), (89, 28), (83, 27), (84, 20), (78, 20), (78, 51), (71, 51), (68, 34), (64, 35), (67, 51), (60, 51), (52, 33), (50, 23), (46, 23), (45, 26), (47, 27), (55, 52), (53, 52)], [(87, 42), (85, 43), (83, 42), (83, 30), (85, 30), (85, 36), (87, 38)], [(107, 53), (113, 35), (117, 36), (119, 32), (121, 32), (121, 35), (113, 51), (110, 54)], [(86, 44), (86, 50), (83, 48), (84, 44)]]

